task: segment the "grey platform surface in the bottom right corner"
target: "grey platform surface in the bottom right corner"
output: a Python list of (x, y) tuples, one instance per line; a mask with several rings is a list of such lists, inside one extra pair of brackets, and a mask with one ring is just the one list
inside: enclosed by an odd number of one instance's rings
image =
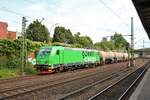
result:
[(150, 68), (129, 100), (150, 100)]

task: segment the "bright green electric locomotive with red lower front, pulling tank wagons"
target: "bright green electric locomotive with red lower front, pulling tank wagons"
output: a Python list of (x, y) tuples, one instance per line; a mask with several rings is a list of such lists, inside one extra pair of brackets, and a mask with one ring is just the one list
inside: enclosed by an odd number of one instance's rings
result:
[(36, 56), (35, 68), (41, 73), (50, 73), (99, 63), (100, 55), (97, 50), (45, 46)]

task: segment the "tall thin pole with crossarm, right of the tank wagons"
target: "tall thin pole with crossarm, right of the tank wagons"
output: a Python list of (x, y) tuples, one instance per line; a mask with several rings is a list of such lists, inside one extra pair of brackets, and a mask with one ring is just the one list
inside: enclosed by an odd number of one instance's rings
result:
[(133, 28), (133, 17), (131, 17), (131, 62), (130, 65), (134, 66), (134, 28)]

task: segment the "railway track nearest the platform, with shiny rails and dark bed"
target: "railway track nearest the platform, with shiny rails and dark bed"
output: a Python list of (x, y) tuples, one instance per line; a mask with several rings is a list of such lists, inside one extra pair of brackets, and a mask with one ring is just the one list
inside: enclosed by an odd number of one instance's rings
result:
[(128, 100), (149, 67), (150, 62), (108, 86), (89, 100)]

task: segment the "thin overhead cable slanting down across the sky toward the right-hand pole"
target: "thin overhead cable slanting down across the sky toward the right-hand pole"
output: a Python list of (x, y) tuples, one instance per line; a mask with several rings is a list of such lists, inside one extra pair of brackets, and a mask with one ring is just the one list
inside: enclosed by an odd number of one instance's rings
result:
[(113, 11), (103, 0), (99, 0), (99, 2), (101, 4), (103, 4), (111, 13), (113, 13), (117, 18), (119, 18), (121, 20), (121, 22), (125, 25), (125, 26), (128, 26), (130, 27), (130, 25), (128, 25), (127, 23), (125, 23), (122, 18), (115, 12)]

